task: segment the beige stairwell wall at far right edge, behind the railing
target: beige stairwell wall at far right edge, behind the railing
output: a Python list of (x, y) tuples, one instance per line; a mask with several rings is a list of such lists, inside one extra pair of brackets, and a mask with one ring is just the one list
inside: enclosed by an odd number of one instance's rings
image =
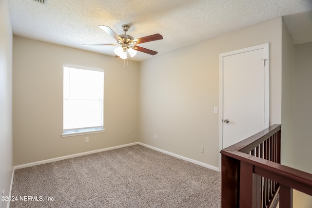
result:
[[(295, 46), (294, 72), (294, 142), (293, 168), (312, 173), (312, 42)], [(300, 208), (312, 207), (312, 196), (298, 191), (293, 203)]]

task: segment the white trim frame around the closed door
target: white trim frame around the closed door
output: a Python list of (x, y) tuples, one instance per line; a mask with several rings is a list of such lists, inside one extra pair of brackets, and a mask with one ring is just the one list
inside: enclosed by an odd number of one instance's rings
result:
[[(223, 149), (223, 57), (249, 51), (264, 49), (264, 128), (269, 127), (270, 120), (270, 79), (269, 79), (269, 43), (243, 48), (219, 55), (219, 152)], [(219, 171), (221, 171), (221, 153), (219, 153)]]

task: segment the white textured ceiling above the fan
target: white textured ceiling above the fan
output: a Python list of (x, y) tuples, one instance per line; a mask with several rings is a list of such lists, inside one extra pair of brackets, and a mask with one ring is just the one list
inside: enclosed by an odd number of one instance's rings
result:
[[(301, 40), (296, 20), (312, 27), (312, 0), (8, 0), (13, 34), (115, 56), (117, 46), (83, 46), (83, 43), (115, 43), (98, 25), (111, 27), (134, 38), (159, 33), (162, 40), (142, 43), (158, 54), (239, 30), (269, 19), (284, 17), (294, 43)], [(302, 16), (293, 16), (305, 12)], [(306, 26), (304, 26), (306, 27)], [(311, 32), (311, 31), (310, 31)], [(305, 31), (309, 34), (309, 31)], [(301, 38), (301, 39), (300, 39)], [(306, 37), (305, 37), (306, 38)], [(155, 55), (155, 56), (157, 56)], [(131, 58), (153, 57), (141, 52)]]

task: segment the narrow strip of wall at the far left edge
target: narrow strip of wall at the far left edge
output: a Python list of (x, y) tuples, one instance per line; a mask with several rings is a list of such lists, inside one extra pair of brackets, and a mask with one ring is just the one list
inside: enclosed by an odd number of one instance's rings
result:
[(12, 28), (7, 0), (0, 0), (0, 196), (9, 196), (12, 171)]

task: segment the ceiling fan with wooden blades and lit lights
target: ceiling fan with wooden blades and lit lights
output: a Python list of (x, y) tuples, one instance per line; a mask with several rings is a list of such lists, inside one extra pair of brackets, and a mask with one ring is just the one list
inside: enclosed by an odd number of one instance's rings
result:
[(126, 59), (128, 57), (127, 54), (129, 54), (131, 57), (134, 57), (137, 54), (137, 51), (150, 54), (150, 55), (156, 55), (158, 52), (143, 48), (140, 46), (137, 46), (137, 44), (144, 43), (144, 42), (150, 42), (154, 40), (160, 40), (162, 39), (162, 35), (160, 34), (154, 34), (150, 36), (145, 36), (142, 38), (134, 39), (132, 36), (127, 35), (127, 31), (129, 30), (129, 25), (122, 25), (122, 31), (124, 34), (117, 35), (110, 27), (99, 25), (99, 28), (104, 30), (108, 35), (112, 36), (117, 40), (117, 43), (99, 43), (99, 44), (83, 44), (83, 45), (119, 45), (120, 47), (116, 48), (114, 50), (116, 57), (120, 57), (122, 59)]

